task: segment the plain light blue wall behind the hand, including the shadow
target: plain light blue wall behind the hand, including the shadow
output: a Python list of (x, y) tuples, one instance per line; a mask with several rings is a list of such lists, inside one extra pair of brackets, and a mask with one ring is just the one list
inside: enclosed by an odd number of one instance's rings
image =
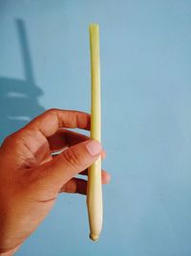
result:
[(191, 255), (191, 1), (0, 0), (1, 141), (50, 107), (90, 111), (88, 26), (100, 25), (100, 240), (61, 195), (17, 256)]

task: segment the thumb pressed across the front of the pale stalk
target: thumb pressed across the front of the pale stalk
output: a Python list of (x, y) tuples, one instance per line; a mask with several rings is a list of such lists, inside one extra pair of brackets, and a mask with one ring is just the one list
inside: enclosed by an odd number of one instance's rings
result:
[[(101, 153), (96, 140), (88, 140), (63, 151), (38, 168), (38, 181), (59, 190), (72, 177), (91, 166)], [(45, 182), (45, 183), (44, 183)]]

